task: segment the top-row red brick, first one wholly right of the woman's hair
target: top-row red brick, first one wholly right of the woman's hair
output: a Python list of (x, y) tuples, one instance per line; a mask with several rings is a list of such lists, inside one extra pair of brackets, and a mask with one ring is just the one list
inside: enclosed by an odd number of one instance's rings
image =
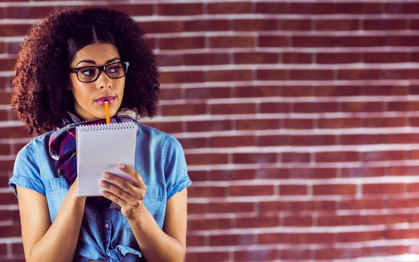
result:
[(158, 15), (203, 15), (203, 3), (158, 3)]

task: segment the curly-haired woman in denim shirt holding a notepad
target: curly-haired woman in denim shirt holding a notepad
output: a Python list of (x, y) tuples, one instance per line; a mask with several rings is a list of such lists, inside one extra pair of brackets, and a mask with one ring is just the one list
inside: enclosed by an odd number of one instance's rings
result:
[(124, 13), (69, 8), (31, 28), (12, 108), (29, 133), (43, 134), (17, 154), (9, 181), (28, 262), (183, 261), (191, 180), (172, 136), (138, 123), (135, 165), (119, 166), (133, 184), (105, 173), (103, 196), (78, 197), (75, 126), (103, 122), (104, 99), (112, 122), (153, 117), (157, 78), (143, 32)]

